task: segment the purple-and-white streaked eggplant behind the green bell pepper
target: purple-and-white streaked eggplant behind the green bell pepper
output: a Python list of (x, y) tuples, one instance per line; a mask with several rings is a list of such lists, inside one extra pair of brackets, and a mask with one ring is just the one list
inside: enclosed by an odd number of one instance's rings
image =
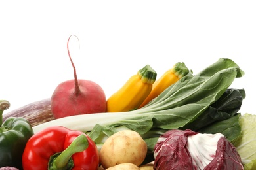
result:
[(3, 114), (3, 121), (9, 117), (22, 117), (26, 118), (30, 122), (31, 126), (36, 126), (43, 124), (44, 122), (49, 122), (54, 120), (51, 111), (51, 99), (43, 99), (41, 101), (35, 101), (24, 107), (12, 110)]

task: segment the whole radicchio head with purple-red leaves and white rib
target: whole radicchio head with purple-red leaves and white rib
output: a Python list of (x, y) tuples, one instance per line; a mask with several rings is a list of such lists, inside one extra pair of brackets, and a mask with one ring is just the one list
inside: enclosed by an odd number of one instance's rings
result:
[(221, 133), (173, 129), (154, 147), (154, 169), (244, 169), (236, 148)]

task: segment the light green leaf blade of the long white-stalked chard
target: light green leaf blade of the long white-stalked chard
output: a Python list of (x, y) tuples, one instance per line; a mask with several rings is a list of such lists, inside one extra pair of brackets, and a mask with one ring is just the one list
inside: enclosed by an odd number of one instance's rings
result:
[(115, 133), (114, 127), (120, 125), (138, 131), (141, 135), (152, 127), (178, 129), (198, 118), (223, 95), (234, 78), (242, 75), (244, 72), (236, 63), (221, 58), (195, 76), (188, 73), (145, 107), (129, 112), (127, 116), (131, 118), (103, 126), (102, 131), (108, 129), (110, 132), (112, 129), (112, 133), (106, 134), (111, 135)]

